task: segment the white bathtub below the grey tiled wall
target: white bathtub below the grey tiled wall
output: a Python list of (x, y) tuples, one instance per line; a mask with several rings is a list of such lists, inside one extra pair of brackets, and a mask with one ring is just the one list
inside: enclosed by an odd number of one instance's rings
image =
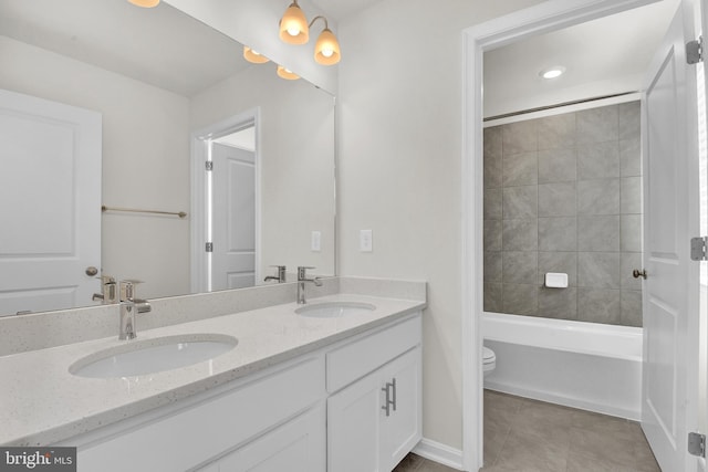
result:
[(485, 313), (485, 388), (641, 419), (642, 328)]

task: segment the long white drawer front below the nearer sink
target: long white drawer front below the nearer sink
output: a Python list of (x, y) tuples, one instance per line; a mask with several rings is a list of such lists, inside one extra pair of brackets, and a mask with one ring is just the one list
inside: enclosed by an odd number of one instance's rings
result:
[(323, 395), (322, 367), (322, 357), (310, 358), (197, 406), (128, 428), (107, 441), (80, 447), (79, 470), (157, 471), (196, 466), (317, 402)]

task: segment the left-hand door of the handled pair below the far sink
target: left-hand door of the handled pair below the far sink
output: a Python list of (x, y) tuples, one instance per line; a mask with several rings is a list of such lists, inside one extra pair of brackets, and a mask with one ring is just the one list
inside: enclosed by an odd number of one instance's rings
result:
[(375, 371), (327, 399), (329, 471), (382, 471), (382, 395)]

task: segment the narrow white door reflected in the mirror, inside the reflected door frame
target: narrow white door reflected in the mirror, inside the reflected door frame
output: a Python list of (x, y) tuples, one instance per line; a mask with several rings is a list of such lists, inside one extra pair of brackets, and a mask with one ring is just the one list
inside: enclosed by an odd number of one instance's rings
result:
[(211, 290), (256, 285), (256, 153), (214, 143)]

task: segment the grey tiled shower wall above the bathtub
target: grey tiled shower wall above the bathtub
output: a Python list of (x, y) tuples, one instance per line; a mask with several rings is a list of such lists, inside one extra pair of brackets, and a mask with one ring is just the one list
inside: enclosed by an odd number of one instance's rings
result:
[(485, 311), (642, 326), (641, 176), (639, 102), (486, 128)]

